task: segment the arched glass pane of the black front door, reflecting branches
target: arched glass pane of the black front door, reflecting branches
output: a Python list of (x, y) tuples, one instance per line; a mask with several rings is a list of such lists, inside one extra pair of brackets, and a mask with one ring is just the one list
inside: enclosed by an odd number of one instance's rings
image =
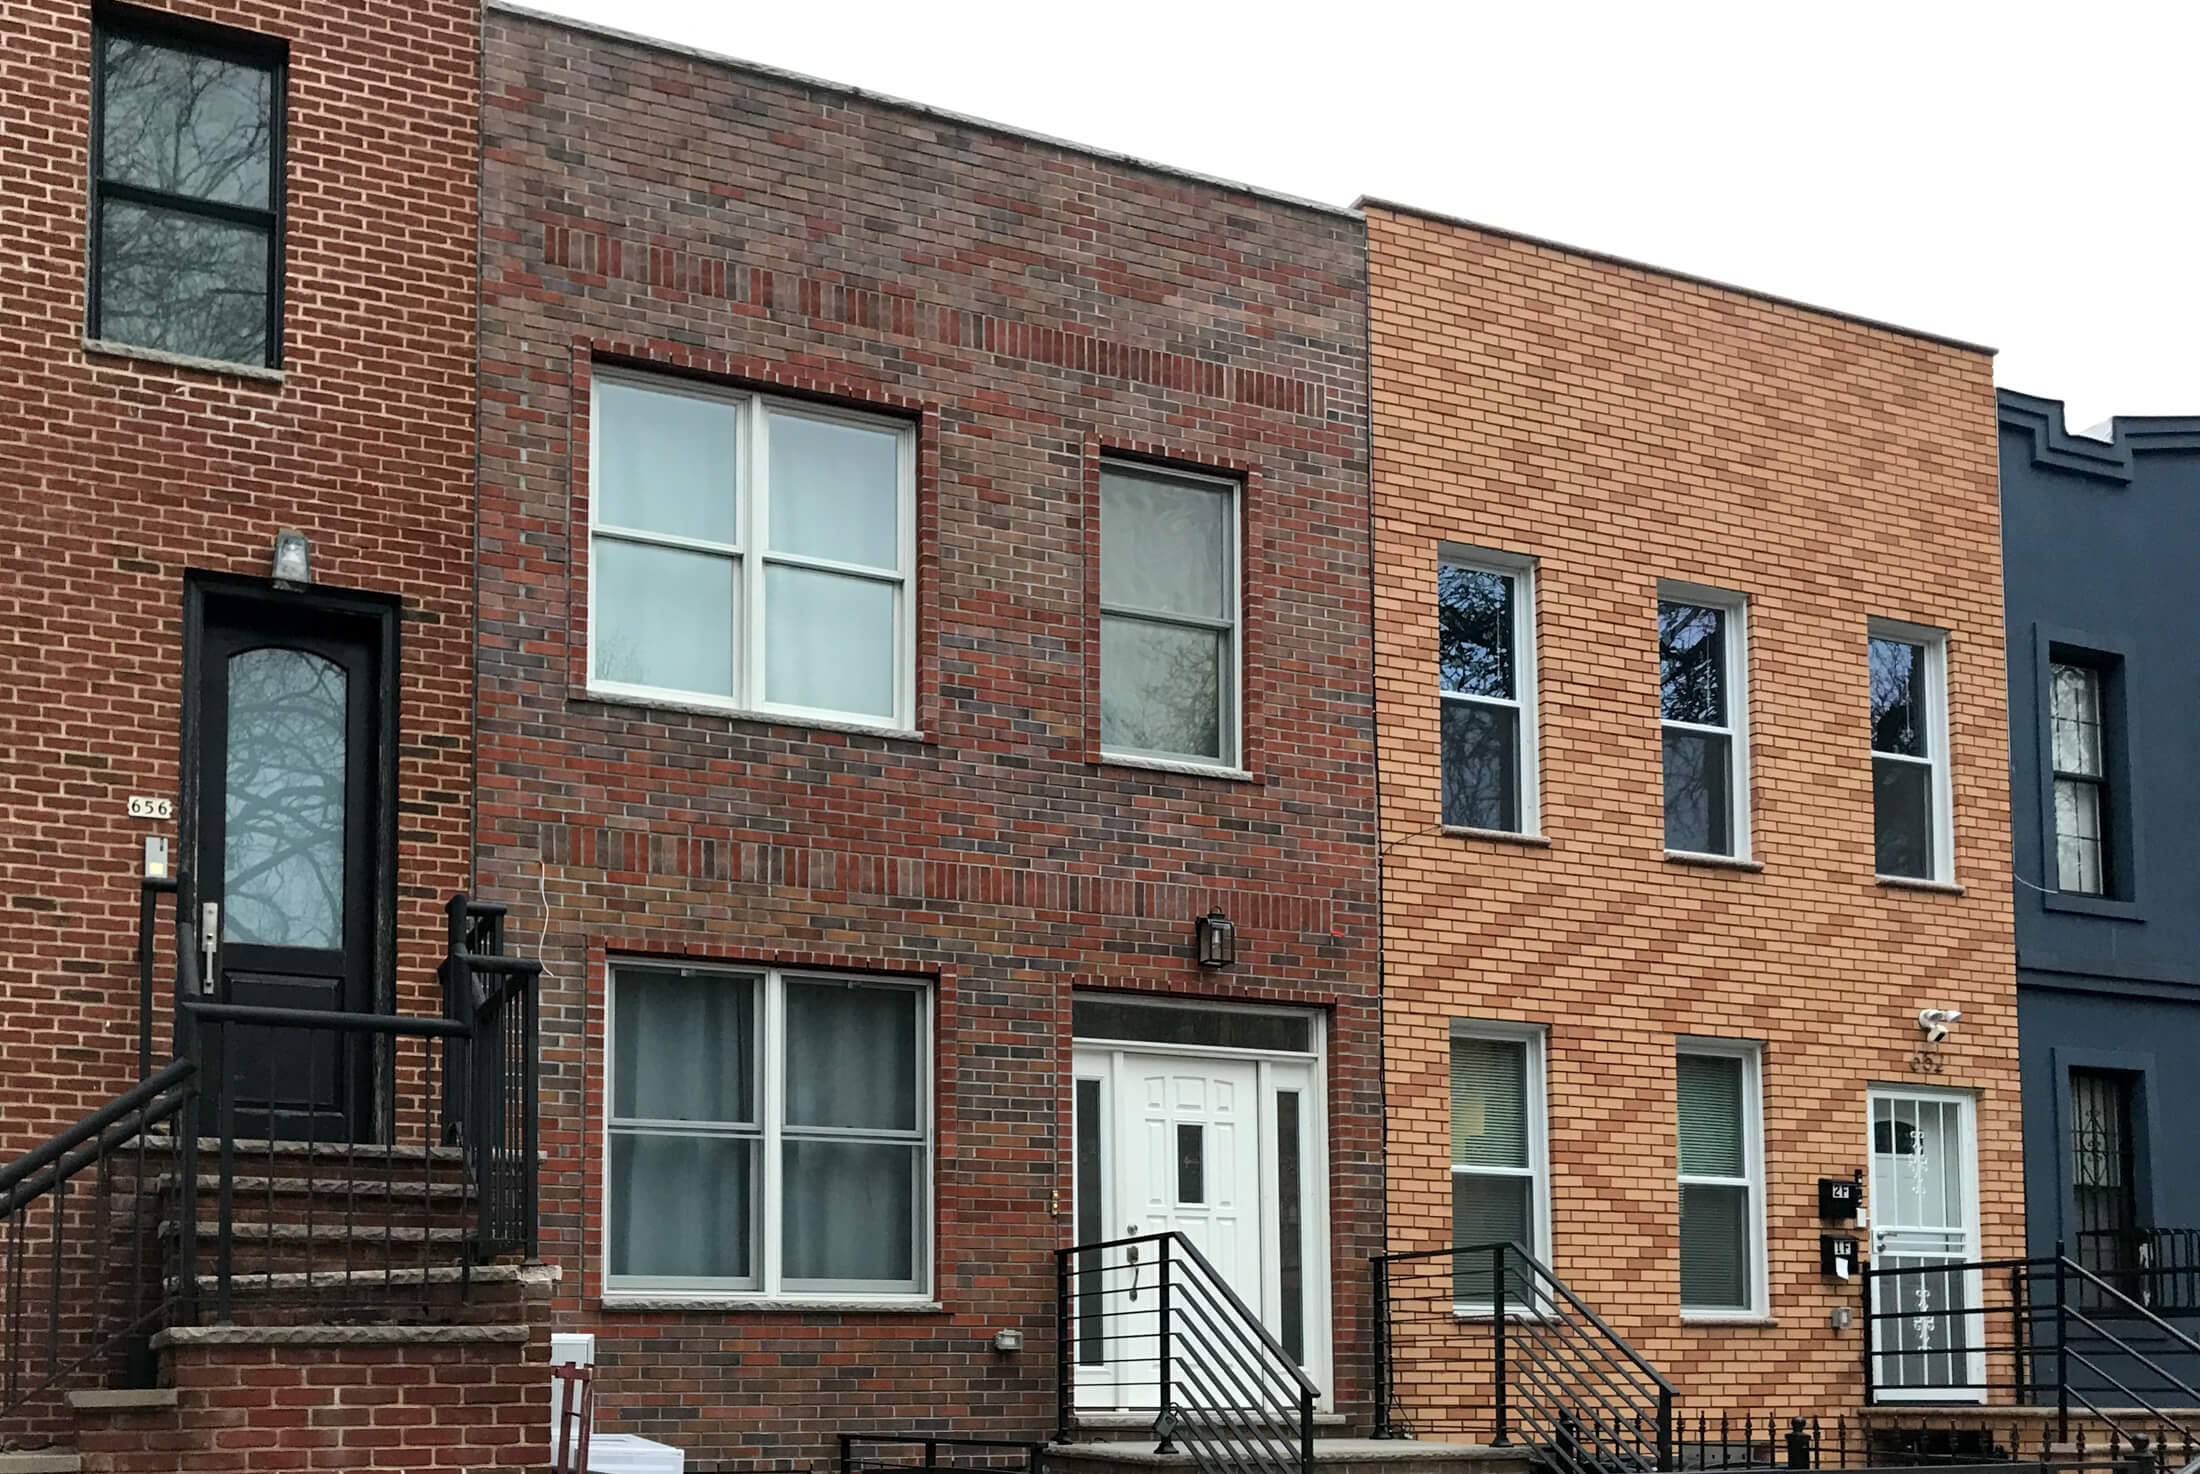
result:
[(229, 660), (229, 942), (343, 944), (343, 669), (295, 649)]

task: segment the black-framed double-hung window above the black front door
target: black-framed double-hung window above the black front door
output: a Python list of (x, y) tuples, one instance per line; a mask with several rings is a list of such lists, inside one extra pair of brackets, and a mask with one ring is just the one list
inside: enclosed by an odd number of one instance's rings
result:
[(277, 367), (282, 169), (279, 42), (99, 11), (88, 337)]

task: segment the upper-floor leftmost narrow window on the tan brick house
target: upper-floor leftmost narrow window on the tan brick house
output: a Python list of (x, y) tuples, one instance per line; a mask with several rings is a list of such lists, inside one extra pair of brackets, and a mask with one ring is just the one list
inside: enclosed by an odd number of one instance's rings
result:
[(1437, 565), (1443, 823), (1533, 834), (1536, 574), (1503, 552), (1445, 548)]

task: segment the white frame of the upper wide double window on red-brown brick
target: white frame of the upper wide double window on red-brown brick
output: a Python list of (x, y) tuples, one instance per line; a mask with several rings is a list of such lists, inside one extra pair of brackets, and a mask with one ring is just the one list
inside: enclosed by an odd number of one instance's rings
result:
[[(739, 447), (735, 466), (728, 469), (728, 495), (735, 497), (735, 541), (722, 543), (675, 532), (649, 532), (603, 521), (603, 396), (598, 387), (616, 383), (651, 394), (684, 394), (717, 405), (728, 405), (739, 416)], [(854, 425), (869, 431), (891, 433), (898, 444), (895, 475), (898, 502), (895, 519), (900, 539), (895, 557), (900, 568), (884, 574), (860, 563), (840, 563), (803, 552), (770, 552), (770, 422), (772, 416), (801, 416), (838, 425)], [(700, 706), (750, 717), (779, 717), (816, 726), (854, 726), (862, 730), (904, 733), (915, 726), (915, 669), (917, 669), (917, 431), (909, 420), (889, 414), (867, 414), (860, 409), (838, 409), (807, 400), (777, 398), (744, 389), (722, 389), (715, 385), (675, 378), (671, 374), (647, 374), (631, 370), (598, 367), (590, 381), (590, 466), (587, 466), (587, 691), (627, 702), (660, 706)], [(649, 686), (636, 682), (605, 680), (596, 673), (596, 647), (603, 629), (596, 607), (596, 546), (603, 539), (671, 548), (680, 552), (704, 552), (726, 559), (737, 570), (737, 612), (741, 638), (733, 653), (733, 695), (711, 691), (682, 691), (678, 686)], [(880, 717), (869, 711), (832, 711), (821, 706), (796, 706), (790, 702), (768, 702), (766, 691), (766, 568), (810, 568), (827, 574), (845, 574), (893, 587), (893, 713)]]

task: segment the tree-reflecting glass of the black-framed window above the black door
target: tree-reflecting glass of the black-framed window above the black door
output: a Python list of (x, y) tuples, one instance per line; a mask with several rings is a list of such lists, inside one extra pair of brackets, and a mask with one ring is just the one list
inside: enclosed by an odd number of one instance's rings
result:
[(99, 332), (264, 363), (273, 75), (114, 35), (101, 81)]

